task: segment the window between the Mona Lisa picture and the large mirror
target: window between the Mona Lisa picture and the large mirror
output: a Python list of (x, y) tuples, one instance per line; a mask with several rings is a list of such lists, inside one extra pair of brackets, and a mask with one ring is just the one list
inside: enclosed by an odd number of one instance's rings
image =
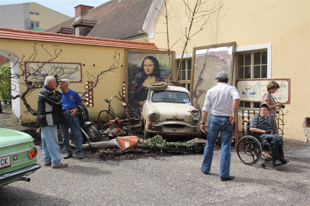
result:
[[(180, 61), (177, 61), (176, 71), (178, 71)], [(182, 83), (183, 87), (187, 90), (190, 89), (191, 83), (191, 70), (192, 70), (192, 59), (183, 59), (180, 68), (179, 82)]]

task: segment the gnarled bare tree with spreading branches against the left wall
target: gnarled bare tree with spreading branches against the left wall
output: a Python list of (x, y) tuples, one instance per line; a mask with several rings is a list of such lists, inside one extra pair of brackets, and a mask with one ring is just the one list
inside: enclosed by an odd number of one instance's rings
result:
[[(44, 79), (47, 75), (54, 76), (56, 80), (62, 79), (62, 78), (69, 78), (71, 75), (75, 74), (76, 72), (79, 72), (78, 67), (72, 67), (70, 69), (63, 69), (62, 64), (58, 63), (52, 63), (62, 52), (62, 49), (58, 48), (58, 45), (53, 45), (54, 48), (52, 51), (49, 51), (47, 48), (41, 45), (43, 50), (47, 53), (49, 56), (47, 61), (40, 61), (40, 59), (37, 59), (38, 56), (38, 49), (37, 45), (34, 44), (32, 46), (33, 53), (26, 58), (25, 55), (22, 55), (22, 57), (14, 56), (11, 57), (9, 55), (9, 60), (12, 63), (13, 68), (18, 67), (18, 71), (16, 73), (11, 74), (11, 91), (17, 92), (16, 95), (11, 95), (12, 99), (20, 98), (24, 105), (26, 106), (27, 110), (33, 115), (36, 116), (38, 114), (38, 111), (34, 110), (31, 105), (27, 102), (27, 97), (35, 90), (42, 88), (44, 85)], [(35, 66), (33, 66), (35, 64)], [(88, 78), (88, 81), (94, 82), (93, 86), (86, 89), (82, 93), (82, 97), (92, 88), (96, 87), (99, 83), (99, 80), (103, 78), (102, 75), (106, 74), (109, 71), (115, 71), (119, 67), (120, 64), (120, 54), (118, 54), (118, 58), (116, 57), (116, 53), (113, 57), (113, 64), (110, 66), (109, 69), (103, 70), (98, 74), (92, 74), (89, 72), (86, 72), (86, 78)], [(48, 67), (46, 65), (49, 65)], [(45, 67), (44, 67), (45, 66)], [(46, 69), (50, 68), (50, 69)], [(17, 89), (17, 85), (20, 85), (22, 87), (22, 91)], [(24, 89), (25, 87), (25, 89)]]

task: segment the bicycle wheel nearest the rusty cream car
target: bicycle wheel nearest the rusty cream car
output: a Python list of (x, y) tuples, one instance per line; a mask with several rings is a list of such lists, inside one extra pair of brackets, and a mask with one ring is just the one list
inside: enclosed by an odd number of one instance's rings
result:
[(142, 132), (144, 127), (143, 121), (135, 112), (126, 112), (123, 116), (123, 120), (123, 128), (131, 129), (131, 131), (137, 134)]

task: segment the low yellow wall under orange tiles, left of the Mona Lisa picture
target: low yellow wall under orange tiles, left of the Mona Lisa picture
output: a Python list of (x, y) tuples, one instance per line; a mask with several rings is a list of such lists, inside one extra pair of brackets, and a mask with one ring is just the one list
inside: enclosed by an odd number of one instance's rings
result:
[[(50, 42), (40, 42), (40, 41), (27, 41), (27, 40), (11, 40), (11, 39), (1, 39), (1, 49), (15, 53), (19, 57), (23, 54), (25, 58), (29, 57), (33, 52), (31, 46), (36, 43), (38, 49), (38, 55), (36, 61), (48, 60), (47, 53), (42, 49), (41, 44), (44, 45), (49, 51), (53, 51), (53, 44)], [(62, 49), (60, 56), (53, 62), (73, 62), (81, 63), (83, 82), (87, 81), (85, 77), (85, 71), (89, 73), (98, 73), (102, 70), (108, 69), (113, 64), (113, 56), (115, 52), (120, 53), (121, 61), (120, 65), (123, 65), (121, 69), (117, 69), (116, 72), (109, 72), (104, 75), (104, 78), (100, 80), (97, 87), (94, 88), (94, 107), (87, 107), (89, 116), (92, 120), (96, 120), (98, 113), (102, 109), (108, 108), (108, 103), (103, 101), (104, 98), (110, 99), (112, 95), (118, 95), (118, 91), (122, 93), (123, 81), (125, 81), (125, 48), (117, 47), (103, 47), (103, 46), (90, 46), (81, 44), (58, 44), (59, 48)], [(95, 67), (93, 66), (95, 64)], [(22, 79), (20, 79), (20, 82)], [(70, 83), (69, 88), (76, 90), (78, 92), (83, 92), (83, 83)], [(24, 91), (24, 88), (20, 88)], [(27, 97), (28, 103), (31, 107), (37, 110), (38, 104), (38, 92), (36, 90), (29, 97)], [(119, 96), (119, 95), (118, 95)], [(117, 115), (122, 115), (123, 107), (120, 101), (113, 99), (112, 107)], [(32, 116), (26, 109), (22, 101), (20, 101), (20, 113), (22, 124), (28, 124), (36, 121), (36, 116)]]

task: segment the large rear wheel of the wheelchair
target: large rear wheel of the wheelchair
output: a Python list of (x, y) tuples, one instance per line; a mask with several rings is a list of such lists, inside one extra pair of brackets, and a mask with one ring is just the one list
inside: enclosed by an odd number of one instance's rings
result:
[(254, 165), (262, 156), (262, 147), (255, 137), (244, 136), (238, 142), (237, 154), (244, 164)]

